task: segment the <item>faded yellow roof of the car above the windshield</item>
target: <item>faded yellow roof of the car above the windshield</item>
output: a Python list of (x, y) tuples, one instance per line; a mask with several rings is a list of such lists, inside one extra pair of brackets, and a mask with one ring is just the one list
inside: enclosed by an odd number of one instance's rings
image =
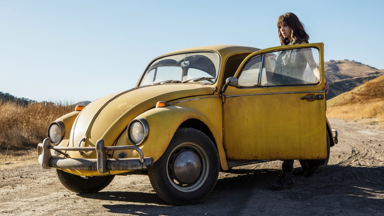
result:
[(228, 53), (232, 52), (256, 52), (260, 50), (259, 48), (255, 47), (247, 47), (247, 46), (240, 46), (240, 45), (209, 45), (209, 46), (202, 46), (202, 47), (192, 47), (192, 48), (185, 48), (182, 50), (176, 50), (173, 52), (166, 53), (164, 55), (169, 55), (172, 53), (180, 53), (180, 52), (188, 52), (188, 51), (198, 51), (198, 50), (214, 50), (220, 53), (221, 56), (225, 56)]

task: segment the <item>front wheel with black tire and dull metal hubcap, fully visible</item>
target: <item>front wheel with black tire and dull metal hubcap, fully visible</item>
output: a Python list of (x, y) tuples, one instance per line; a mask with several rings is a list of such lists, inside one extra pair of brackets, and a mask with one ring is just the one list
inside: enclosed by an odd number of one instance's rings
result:
[(148, 169), (148, 176), (164, 201), (189, 205), (212, 192), (218, 172), (219, 158), (212, 140), (201, 131), (179, 128), (161, 158)]

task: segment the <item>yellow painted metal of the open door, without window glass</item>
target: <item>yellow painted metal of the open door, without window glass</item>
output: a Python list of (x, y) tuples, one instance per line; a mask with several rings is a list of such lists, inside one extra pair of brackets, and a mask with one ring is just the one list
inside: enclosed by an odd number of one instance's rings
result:
[(316, 47), (320, 79), (315, 85), (237, 88), (225, 91), (224, 143), (232, 160), (324, 159), (326, 150), (325, 100), (301, 97), (323, 95), (323, 44), (280, 46), (252, 53), (248, 59), (287, 48)]

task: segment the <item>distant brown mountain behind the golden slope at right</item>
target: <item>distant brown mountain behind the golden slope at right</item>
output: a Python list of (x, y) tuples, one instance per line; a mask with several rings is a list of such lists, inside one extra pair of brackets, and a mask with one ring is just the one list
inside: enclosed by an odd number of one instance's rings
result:
[(384, 74), (384, 69), (378, 70), (353, 60), (325, 61), (324, 70), (329, 83), (327, 100)]

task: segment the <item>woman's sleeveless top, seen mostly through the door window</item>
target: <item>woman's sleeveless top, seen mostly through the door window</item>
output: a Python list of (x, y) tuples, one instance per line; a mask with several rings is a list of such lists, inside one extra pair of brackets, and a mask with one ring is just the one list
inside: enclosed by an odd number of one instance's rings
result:
[[(306, 39), (300, 39), (297, 43), (293, 40), (288, 45), (308, 42)], [(307, 60), (300, 49), (282, 50), (276, 55), (276, 67), (273, 71), (272, 81), (278, 85), (301, 84)]]

